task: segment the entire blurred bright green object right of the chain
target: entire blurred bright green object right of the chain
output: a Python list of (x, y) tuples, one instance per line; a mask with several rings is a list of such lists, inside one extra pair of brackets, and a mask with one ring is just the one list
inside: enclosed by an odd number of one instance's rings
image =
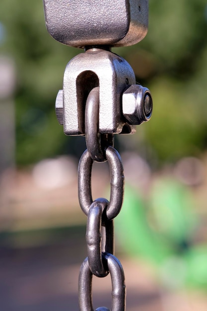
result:
[(193, 206), (190, 189), (170, 178), (157, 180), (147, 201), (126, 185), (116, 220), (120, 245), (153, 264), (169, 287), (207, 289), (207, 246), (191, 242), (198, 224)]

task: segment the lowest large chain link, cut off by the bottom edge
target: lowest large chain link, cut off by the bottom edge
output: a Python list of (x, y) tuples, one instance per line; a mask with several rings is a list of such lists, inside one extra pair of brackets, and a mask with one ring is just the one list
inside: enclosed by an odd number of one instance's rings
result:
[[(112, 254), (104, 253), (103, 259), (111, 274), (112, 282), (112, 308), (111, 311), (126, 310), (126, 286), (125, 276), (120, 261)], [(92, 273), (86, 257), (80, 267), (78, 279), (79, 308), (80, 311), (94, 311), (92, 305)], [(106, 307), (96, 311), (110, 311)]]

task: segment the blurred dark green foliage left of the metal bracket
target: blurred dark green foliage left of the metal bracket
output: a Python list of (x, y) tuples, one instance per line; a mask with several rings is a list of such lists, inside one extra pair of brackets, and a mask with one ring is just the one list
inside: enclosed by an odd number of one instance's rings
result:
[(68, 63), (79, 51), (53, 40), (45, 27), (41, 0), (2, 0), (0, 22), (6, 35), (0, 52), (14, 58), (16, 161), (28, 164), (62, 153), (69, 142), (54, 110)]

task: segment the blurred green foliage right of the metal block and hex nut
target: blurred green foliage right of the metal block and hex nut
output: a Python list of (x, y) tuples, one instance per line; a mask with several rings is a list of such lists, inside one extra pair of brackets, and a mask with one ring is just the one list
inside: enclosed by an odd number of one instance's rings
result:
[[(148, 34), (120, 53), (151, 90), (151, 120), (137, 129), (159, 162), (199, 156), (207, 147), (207, 3), (150, 0)], [(135, 144), (135, 142), (134, 142)]]

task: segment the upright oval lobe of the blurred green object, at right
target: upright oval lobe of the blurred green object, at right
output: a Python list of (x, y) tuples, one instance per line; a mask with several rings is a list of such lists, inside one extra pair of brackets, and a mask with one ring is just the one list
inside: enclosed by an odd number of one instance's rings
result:
[(197, 222), (189, 188), (172, 178), (159, 179), (152, 187), (148, 204), (156, 231), (182, 252), (188, 247)]

